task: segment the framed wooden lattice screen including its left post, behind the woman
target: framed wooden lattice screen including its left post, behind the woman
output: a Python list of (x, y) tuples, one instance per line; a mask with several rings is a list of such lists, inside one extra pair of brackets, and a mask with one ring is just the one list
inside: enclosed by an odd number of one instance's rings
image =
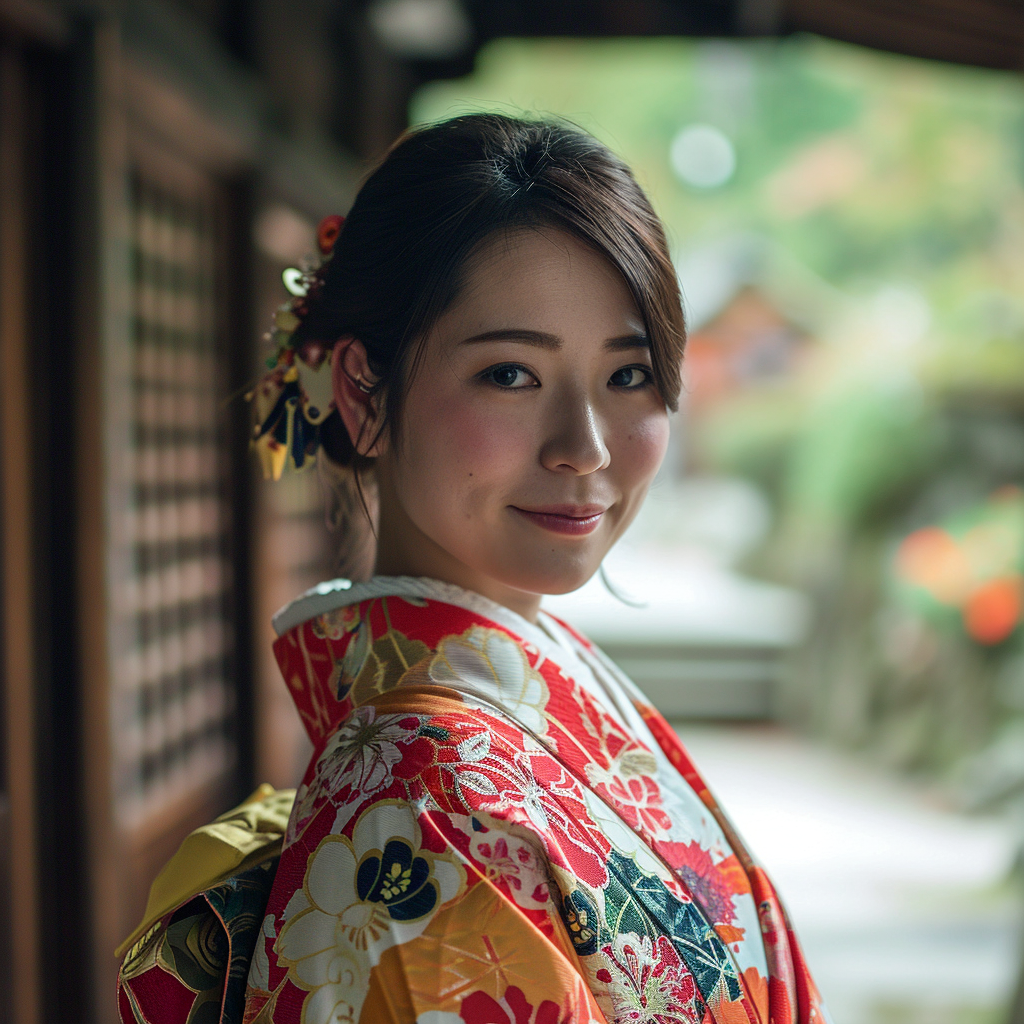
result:
[(95, 38), (95, 307), (80, 358), (82, 729), (96, 1020), (154, 876), (251, 775), (251, 155)]

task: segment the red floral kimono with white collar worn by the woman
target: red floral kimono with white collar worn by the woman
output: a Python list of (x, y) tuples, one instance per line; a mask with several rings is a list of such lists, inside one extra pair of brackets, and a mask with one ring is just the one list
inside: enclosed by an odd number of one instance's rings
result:
[(566, 624), (377, 577), (274, 625), (314, 746), (287, 826), (133, 936), (122, 1020), (828, 1021), (675, 731)]

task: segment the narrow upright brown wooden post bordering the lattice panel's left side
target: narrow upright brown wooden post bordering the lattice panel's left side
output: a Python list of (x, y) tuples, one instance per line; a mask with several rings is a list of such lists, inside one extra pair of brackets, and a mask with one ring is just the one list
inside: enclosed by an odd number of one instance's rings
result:
[(123, 938), (121, 863), (113, 815), (111, 665), (108, 598), (110, 443), (108, 353), (126, 344), (127, 228), (124, 223), (125, 129), (119, 88), (120, 34), (113, 22), (88, 25), (80, 40), (82, 216), (78, 250), (87, 267), (78, 282), (80, 323), (75, 359), (75, 490), (79, 672), (83, 781), (92, 912), (92, 991), (83, 993), (97, 1024), (116, 1020), (114, 949)]

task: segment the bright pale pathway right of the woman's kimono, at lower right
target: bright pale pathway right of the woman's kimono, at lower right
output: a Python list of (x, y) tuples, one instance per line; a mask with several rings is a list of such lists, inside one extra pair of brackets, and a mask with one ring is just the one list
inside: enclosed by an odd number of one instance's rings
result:
[(767, 867), (836, 1024), (1001, 1024), (1018, 833), (775, 726), (680, 726)]

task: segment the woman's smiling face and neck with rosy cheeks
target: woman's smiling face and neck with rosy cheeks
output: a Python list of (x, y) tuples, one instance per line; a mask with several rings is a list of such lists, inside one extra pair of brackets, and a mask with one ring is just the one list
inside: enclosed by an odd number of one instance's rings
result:
[(377, 571), (529, 617), (589, 580), (665, 455), (643, 322), (601, 255), (555, 228), (496, 238), (426, 338), (400, 443), (378, 458)]

